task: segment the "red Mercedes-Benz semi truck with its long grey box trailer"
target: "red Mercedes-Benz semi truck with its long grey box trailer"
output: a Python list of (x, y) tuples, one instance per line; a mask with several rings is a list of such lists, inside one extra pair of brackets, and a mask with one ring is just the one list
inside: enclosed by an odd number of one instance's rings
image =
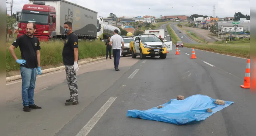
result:
[(26, 34), (28, 22), (36, 24), (34, 36), (39, 40), (64, 39), (64, 23), (72, 22), (72, 29), (78, 39), (97, 38), (97, 12), (65, 0), (29, 0), (23, 5), (21, 16), (17, 16), (18, 35)]

